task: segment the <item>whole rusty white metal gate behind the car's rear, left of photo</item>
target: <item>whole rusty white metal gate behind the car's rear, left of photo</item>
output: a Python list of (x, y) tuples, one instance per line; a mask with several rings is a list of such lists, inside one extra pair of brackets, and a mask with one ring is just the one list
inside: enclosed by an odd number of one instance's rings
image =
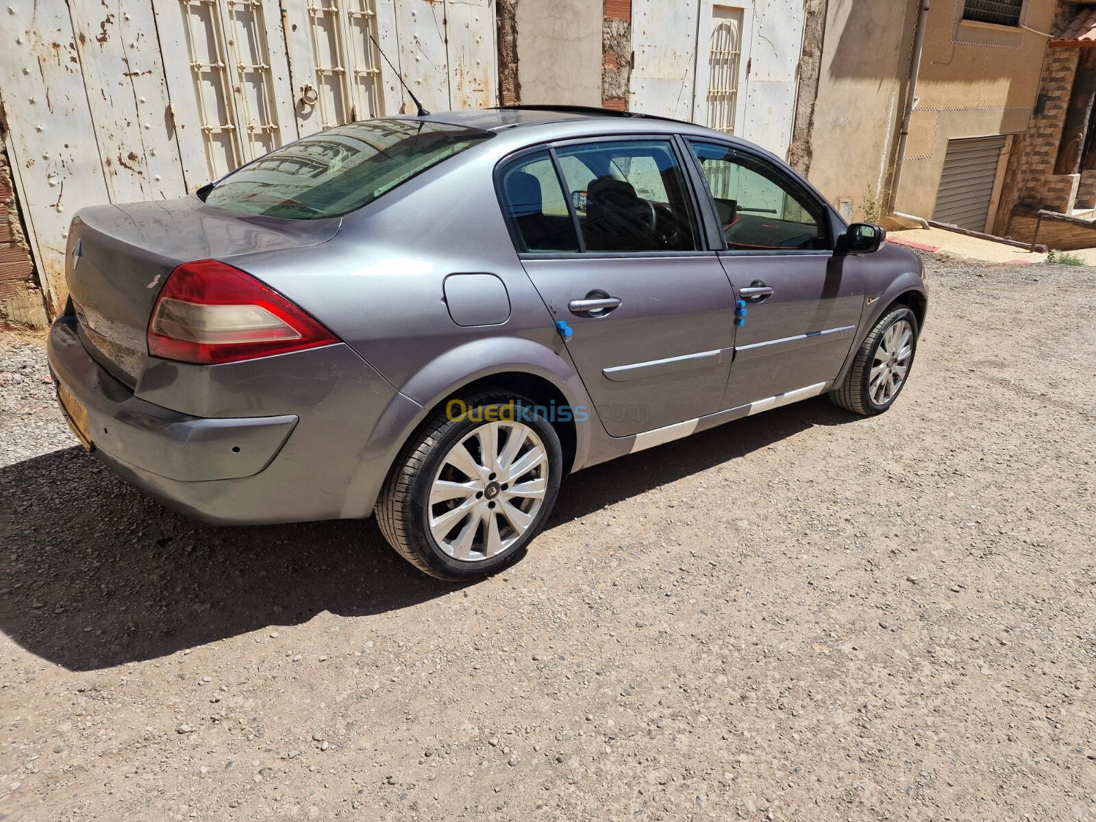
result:
[[(53, 312), (72, 215), (183, 196), (333, 125), (495, 104), (494, 0), (13, 2), (0, 111)], [(373, 38), (392, 61), (381, 59)]]

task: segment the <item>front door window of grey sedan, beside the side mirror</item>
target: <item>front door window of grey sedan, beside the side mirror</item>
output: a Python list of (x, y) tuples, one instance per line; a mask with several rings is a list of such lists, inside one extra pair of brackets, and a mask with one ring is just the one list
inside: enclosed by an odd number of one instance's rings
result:
[(823, 206), (772, 163), (713, 142), (689, 142), (735, 250), (830, 248)]

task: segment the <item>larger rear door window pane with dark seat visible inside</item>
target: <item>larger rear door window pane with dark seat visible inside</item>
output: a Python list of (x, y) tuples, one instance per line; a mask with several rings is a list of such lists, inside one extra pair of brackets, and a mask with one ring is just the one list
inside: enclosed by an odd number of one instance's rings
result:
[(699, 231), (669, 140), (558, 149), (586, 251), (696, 251)]

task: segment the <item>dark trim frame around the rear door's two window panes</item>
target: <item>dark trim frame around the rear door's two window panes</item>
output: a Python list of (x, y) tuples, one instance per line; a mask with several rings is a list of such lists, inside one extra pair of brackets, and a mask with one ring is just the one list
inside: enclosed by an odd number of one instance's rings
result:
[[(689, 199), (689, 204), (693, 207), (693, 214), (696, 218), (696, 231), (697, 231), (697, 246), (699, 248), (689, 251), (659, 251), (657, 249), (648, 249), (644, 251), (587, 251), (586, 241), (582, 236), (581, 224), (579, 222), (578, 212), (574, 209), (574, 203), (571, 202), (571, 197), (568, 195), (567, 178), (563, 175), (563, 170), (560, 168), (559, 157), (556, 152), (557, 149), (566, 149), (572, 146), (586, 146), (597, 142), (664, 142), (670, 147), (674, 159), (677, 160), (678, 168), (682, 171), (682, 176), (685, 180), (686, 196)], [(493, 181), (495, 191), (495, 201), (499, 204), (499, 210), (502, 214), (503, 220), (506, 222), (506, 228), (510, 231), (511, 242), (514, 244), (514, 251), (521, 260), (613, 260), (613, 259), (640, 259), (647, 256), (666, 258), (666, 256), (710, 256), (712, 253), (719, 251), (720, 249), (712, 242), (712, 235), (710, 231), (709, 220), (710, 215), (708, 209), (711, 207), (710, 203), (705, 203), (699, 196), (699, 192), (696, 189), (695, 181), (693, 180), (694, 169), (690, 151), (685, 151), (687, 147), (682, 142), (682, 137), (677, 133), (672, 134), (603, 134), (596, 136), (586, 137), (569, 137), (562, 140), (550, 140), (548, 142), (541, 142), (536, 146), (527, 146), (525, 148), (513, 151), (506, 155), (504, 158), (499, 160), (494, 167)], [(514, 231), (516, 226), (513, 220), (506, 217), (505, 208), (503, 208), (502, 198), (502, 174), (510, 168), (511, 163), (521, 160), (526, 155), (536, 153), (539, 151), (548, 151), (552, 165), (556, 169), (556, 176), (559, 181), (560, 190), (563, 192), (563, 199), (567, 202), (567, 208), (571, 215), (571, 221), (574, 225), (575, 232), (578, 233), (578, 244), (579, 251), (521, 251), (520, 246), (524, 242), (518, 242), (515, 238)], [(710, 196), (709, 196), (710, 199)], [(522, 238), (524, 240), (524, 238)], [(724, 243), (726, 247), (726, 243)]]

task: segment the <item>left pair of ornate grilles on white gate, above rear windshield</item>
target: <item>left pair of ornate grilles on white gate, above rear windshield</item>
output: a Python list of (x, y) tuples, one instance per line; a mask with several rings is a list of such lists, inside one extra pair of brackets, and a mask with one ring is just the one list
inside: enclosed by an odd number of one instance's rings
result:
[(282, 145), (261, 0), (181, 0), (209, 173)]

